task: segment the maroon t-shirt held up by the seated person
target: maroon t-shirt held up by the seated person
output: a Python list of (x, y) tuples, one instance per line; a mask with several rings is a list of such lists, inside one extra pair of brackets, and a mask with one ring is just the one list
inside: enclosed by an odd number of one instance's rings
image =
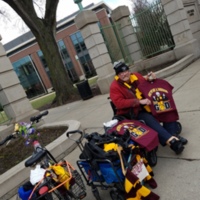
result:
[(173, 122), (179, 119), (172, 96), (173, 86), (167, 81), (162, 79), (144, 81), (138, 85), (138, 89), (144, 98), (151, 100), (152, 115), (160, 122)]

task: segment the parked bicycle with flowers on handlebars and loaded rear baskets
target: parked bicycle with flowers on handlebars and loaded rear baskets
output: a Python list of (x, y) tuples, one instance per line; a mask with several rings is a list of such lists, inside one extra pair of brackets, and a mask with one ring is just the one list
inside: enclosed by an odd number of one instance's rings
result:
[[(0, 142), (8, 145), (20, 135), (29, 139), (34, 151), (25, 161), (25, 167), (31, 168), (30, 181), (18, 189), (17, 199), (22, 200), (80, 200), (86, 196), (86, 188), (79, 172), (66, 160), (57, 161), (53, 155), (42, 147), (35, 134), (35, 124), (48, 114), (45, 111), (30, 118), (30, 123), (15, 124), (15, 131)], [(41, 173), (37, 176), (37, 173)]]

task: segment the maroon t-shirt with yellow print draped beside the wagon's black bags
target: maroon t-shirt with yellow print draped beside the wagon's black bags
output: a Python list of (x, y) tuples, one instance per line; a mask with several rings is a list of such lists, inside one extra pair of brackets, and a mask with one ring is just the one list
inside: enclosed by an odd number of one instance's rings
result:
[(145, 148), (147, 151), (151, 151), (158, 146), (158, 133), (137, 120), (122, 120), (108, 130), (108, 133), (117, 131), (119, 135), (123, 135), (127, 128), (131, 134), (131, 139), (140, 147)]

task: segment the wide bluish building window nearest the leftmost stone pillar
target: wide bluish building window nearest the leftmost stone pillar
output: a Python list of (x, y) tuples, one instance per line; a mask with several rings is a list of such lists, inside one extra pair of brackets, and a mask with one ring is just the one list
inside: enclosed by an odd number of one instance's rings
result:
[(46, 93), (30, 56), (26, 56), (12, 65), (29, 99)]

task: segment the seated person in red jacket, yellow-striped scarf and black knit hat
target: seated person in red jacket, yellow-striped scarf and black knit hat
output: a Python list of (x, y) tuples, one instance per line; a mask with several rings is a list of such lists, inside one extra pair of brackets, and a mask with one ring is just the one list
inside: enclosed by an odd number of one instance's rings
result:
[(115, 64), (114, 70), (116, 76), (110, 85), (110, 99), (116, 107), (116, 115), (126, 119), (143, 120), (147, 126), (157, 131), (162, 146), (168, 145), (176, 154), (180, 154), (184, 150), (187, 140), (181, 141), (184, 138), (172, 135), (151, 113), (143, 108), (145, 105), (151, 105), (148, 98), (137, 98), (137, 93), (140, 93), (137, 85), (148, 79), (149, 76), (143, 77), (139, 73), (131, 73), (129, 67), (123, 62)]

